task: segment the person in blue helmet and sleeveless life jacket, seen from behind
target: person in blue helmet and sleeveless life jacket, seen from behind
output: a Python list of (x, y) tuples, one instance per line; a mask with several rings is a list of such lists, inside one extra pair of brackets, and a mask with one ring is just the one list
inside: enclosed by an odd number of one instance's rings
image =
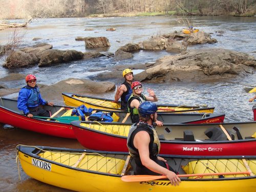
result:
[(159, 157), (160, 141), (153, 122), (157, 106), (145, 101), (138, 108), (140, 121), (132, 125), (127, 137), (127, 147), (136, 163), (135, 175), (165, 175), (171, 184), (179, 185), (180, 178), (166, 160)]

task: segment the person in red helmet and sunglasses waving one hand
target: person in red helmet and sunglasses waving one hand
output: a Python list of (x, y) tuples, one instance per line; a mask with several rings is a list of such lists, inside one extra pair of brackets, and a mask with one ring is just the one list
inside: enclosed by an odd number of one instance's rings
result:
[[(132, 83), (132, 90), (133, 94), (130, 96), (127, 102), (128, 111), (131, 113), (131, 120), (133, 123), (136, 123), (139, 121), (139, 112), (138, 108), (139, 105), (145, 101), (158, 101), (158, 98), (155, 94), (155, 92), (148, 88), (147, 92), (149, 96), (142, 94), (142, 84), (139, 81), (134, 81)], [(163, 122), (156, 120), (155, 123), (158, 126), (163, 126)]]

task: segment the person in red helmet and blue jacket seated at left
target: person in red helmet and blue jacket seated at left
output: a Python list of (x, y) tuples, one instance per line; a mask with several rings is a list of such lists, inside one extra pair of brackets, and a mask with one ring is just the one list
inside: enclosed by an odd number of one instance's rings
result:
[(39, 88), (36, 84), (36, 77), (29, 74), (25, 78), (27, 86), (20, 89), (18, 93), (17, 107), (20, 111), (32, 118), (33, 116), (50, 117), (48, 111), (41, 108), (40, 105), (50, 105), (52, 102), (45, 101), (42, 99)]

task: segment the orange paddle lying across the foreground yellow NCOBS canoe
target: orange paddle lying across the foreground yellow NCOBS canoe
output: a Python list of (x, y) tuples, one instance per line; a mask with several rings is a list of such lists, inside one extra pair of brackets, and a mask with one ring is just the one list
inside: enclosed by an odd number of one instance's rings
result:
[[(204, 173), (204, 174), (184, 174), (177, 175), (178, 177), (203, 177), (203, 176), (215, 176), (215, 175), (250, 175), (250, 172), (227, 172), (227, 173)], [(125, 182), (140, 182), (151, 181), (167, 178), (165, 175), (125, 175), (121, 177)]]

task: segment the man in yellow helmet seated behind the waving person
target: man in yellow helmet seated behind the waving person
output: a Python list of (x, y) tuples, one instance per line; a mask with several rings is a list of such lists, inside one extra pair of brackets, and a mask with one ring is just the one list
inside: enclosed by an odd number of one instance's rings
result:
[(133, 93), (131, 88), (133, 82), (133, 71), (131, 69), (123, 70), (123, 77), (125, 81), (121, 86), (117, 86), (115, 101), (118, 101), (121, 98), (121, 109), (127, 111), (127, 101)]

